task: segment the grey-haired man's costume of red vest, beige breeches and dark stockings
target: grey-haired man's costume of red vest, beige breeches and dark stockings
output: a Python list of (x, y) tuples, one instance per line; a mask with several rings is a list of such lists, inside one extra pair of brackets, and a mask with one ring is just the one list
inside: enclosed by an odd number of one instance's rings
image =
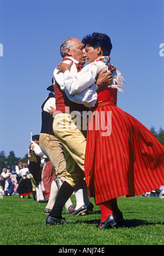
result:
[[(72, 73), (78, 73), (83, 66), (73, 57), (65, 57), (63, 62), (73, 62)], [(73, 215), (84, 214), (88, 206), (92, 206), (89, 201), (86, 184), (84, 182), (84, 161), (86, 148), (86, 130), (81, 129), (81, 119), (83, 111), (88, 109), (84, 104), (74, 103), (69, 100), (65, 93), (65, 83), (63, 73), (57, 74), (58, 69), (54, 71), (54, 92), (56, 99), (56, 112), (54, 113), (53, 130), (55, 136), (61, 141), (67, 163), (67, 176), (62, 184), (54, 207), (48, 218), (62, 218), (61, 213), (66, 201), (75, 192), (77, 205)], [(73, 116), (72, 116), (73, 113)], [(77, 115), (76, 124), (74, 115)], [(80, 127), (79, 127), (80, 126)], [(48, 219), (46, 220), (46, 223)]]

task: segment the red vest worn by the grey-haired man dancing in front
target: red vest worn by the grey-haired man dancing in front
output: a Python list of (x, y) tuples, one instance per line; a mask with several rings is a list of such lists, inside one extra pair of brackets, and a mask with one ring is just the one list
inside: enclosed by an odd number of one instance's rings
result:
[[(62, 61), (70, 60), (69, 58), (65, 57)], [(75, 62), (74, 62), (75, 63)], [(81, 70), (81, 65), (75, 63), (77, 67), (77, 71), (79, 72)], [(55, 100), (56, 100), (56, 111), (58, 112), (69, 112), (73, 110), (78, 111), (88, 111), (89, 109), (85, 107), (83, 104), (74, 103), (73, 101), (70, 101), (67, 95), (65, 94), (65, 91), (62, 91), (60, 88), (60, 85), (58, 85), (55, 81), (54, 85), (54, 92), (55, 92)]]

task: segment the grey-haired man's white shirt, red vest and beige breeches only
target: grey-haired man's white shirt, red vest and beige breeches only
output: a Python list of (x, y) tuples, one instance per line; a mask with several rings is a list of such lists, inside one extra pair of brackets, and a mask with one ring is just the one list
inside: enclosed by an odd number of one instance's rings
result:
[[(72, 57), (65, 57), (63, 62), (73, 61), (72, 73), (78, 73), (83, 66)], [(65, 158), (67, 162), (66, 182), (72, 187), (78, 186), (84, 179), (84, 158), (86, 148), (86, 131), (83, 132), (74, 124), (71, 112), (77, 112), (79, 123), (83, 111), (88, 110), (83, 104), (77, 104), (70, 101), (65, 93), (65, 84), (63, 83), (63, 74), (57, 74), (58, 69), (54, 71), (55, 85), (54, 92), (56, 98), (56, 112), (53, 123), (53, 130), (56, 137), (63, 144)]]

